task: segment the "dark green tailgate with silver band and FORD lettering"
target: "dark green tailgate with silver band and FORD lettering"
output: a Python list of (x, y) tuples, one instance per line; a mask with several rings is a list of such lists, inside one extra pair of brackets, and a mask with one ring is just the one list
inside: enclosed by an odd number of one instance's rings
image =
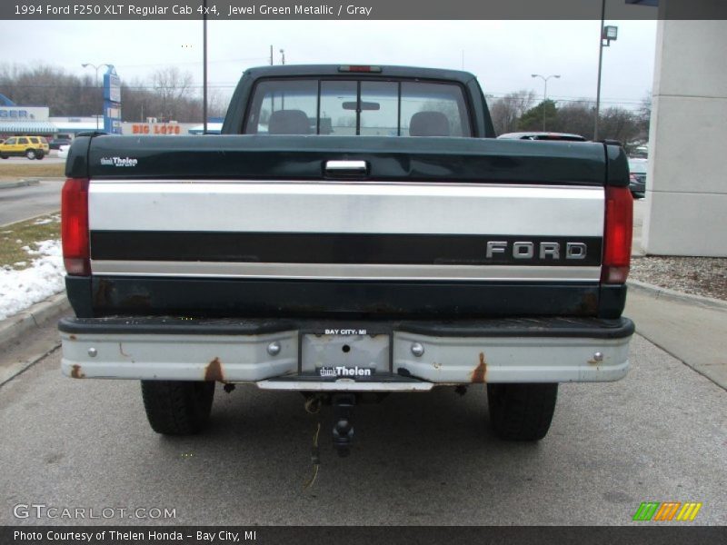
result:
[(602, 144), (94, 137), (67, 165), (90, 178), (92, 274), (67, 287), (85, 317), (617, 317), (624, 164)]

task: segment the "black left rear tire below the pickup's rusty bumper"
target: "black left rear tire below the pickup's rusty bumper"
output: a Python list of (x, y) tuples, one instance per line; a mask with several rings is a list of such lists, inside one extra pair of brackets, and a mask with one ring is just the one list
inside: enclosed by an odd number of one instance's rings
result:
[(146, 418), (164, 435), (203, 431), (214, 399), (214, 381), (142, 381)]

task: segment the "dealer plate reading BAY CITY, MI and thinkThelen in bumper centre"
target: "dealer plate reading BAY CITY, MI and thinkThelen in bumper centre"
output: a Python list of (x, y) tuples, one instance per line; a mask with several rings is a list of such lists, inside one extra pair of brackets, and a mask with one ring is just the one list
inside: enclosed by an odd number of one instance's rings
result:
[(304, 333), (301, 372), (323, 379), (366, 380), (391, 368), (391, 336), (363, 330)]

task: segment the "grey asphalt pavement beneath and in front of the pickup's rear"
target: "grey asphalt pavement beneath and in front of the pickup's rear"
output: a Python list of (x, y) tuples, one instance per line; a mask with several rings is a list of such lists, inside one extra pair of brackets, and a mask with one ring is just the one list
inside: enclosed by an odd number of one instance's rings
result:
[(96, 524), (621, 525), (647, 500), (699, 501), (692, 524), (727, 523), (725, 391), (641, 337), (631, 359), (622, 381), (562, 385), (536, 444), (493, 437), (483, 389), (357, 407), (347, 459), (324, 411), (306, 490), (316, 420), (299, 394), (218, 386), (209, 431), (164, 438), (138, 382), (66, 379), (56, 351), (0, 388), (0, 524), (88, 522), (15, 517), (35, 502), (174, 510)]

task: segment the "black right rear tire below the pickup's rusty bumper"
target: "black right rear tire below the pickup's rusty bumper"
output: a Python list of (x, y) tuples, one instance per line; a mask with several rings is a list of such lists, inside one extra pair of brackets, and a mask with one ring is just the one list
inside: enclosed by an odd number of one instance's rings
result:
[(487, 384), (490, 425), (508, 441), (539, 441), (553, 421), (558, 384)]

